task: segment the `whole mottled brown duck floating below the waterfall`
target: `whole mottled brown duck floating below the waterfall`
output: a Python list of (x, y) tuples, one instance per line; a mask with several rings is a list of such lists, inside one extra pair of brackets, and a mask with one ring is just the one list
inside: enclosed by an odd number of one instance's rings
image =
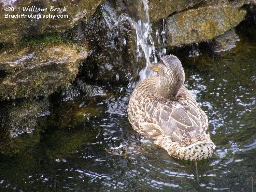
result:
[(189, 161), (212, 156), (215, 145), (208, 131), (208, 117), (184, 86), (185, 73), (174, 55), (161, 57), (149, 68), (157, 75), (133, 90), (128, 103), (132, 128), (170, 156)]

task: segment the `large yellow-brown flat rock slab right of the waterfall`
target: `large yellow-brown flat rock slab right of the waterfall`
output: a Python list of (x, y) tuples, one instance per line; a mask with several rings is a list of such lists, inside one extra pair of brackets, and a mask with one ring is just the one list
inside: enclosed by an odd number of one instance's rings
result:
[(182, 46), (212, 40), (237, 26), (246, 11), (231, 4), (201, 6), (177, 13), (167, 19), (166, 43)]

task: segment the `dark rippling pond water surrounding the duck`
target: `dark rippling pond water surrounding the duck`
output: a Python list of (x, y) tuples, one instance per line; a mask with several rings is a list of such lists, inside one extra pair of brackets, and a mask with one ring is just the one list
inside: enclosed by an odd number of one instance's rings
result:
[(256, 32), (241, 30), (237, 47), (214, 58), (211, 50), (195, 62), (177, 54), (216, 145), (197, 162), (198, 175), (195, 162), (170, 157), (132, 130), (130, 90), (105, 87), (112, 96), (52, 96), (35, 130), (15, 138), (17, 152), (0, 154), (0, 191), (255, 190)]

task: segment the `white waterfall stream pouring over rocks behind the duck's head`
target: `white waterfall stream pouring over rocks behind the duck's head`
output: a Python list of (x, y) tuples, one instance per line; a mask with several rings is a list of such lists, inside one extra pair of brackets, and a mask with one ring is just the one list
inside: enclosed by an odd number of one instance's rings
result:
[(151, 36), (150, 19), (148, 16), (148, 1), (127, 0), (126, 3), (124, 3), (123, 0), (109, 0), (101, 5), (101, 11), (110, 30), (117, 26), (124, 18), (128, 19), (134, 27), (137, 35), (137, 61), (142, 57), (140, 48), (146, 60), (145, 68), (139, 72), (140, 82), (155, 75), (156, 73), (148, 68), (152, 56), (154, 57), (154, 62), (157, 62), (155, 46)]

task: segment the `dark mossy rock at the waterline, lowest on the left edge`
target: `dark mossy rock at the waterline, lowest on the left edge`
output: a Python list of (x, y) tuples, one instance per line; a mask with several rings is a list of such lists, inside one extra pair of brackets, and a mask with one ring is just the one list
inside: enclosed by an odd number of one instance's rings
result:
[[(33, 136), (28, 134), (26, 141), (22, 141), (18, 136), (22, 133), (32, 133), (38, 124), (38, 117), (49, 114), (47, 98), (0, 101), (0, 106), (0, 153), (17, 153), (23, 146), (32, 146), (39, 142), (37, 133)], [(17, 143), (20, 147), (15, 147)]]

